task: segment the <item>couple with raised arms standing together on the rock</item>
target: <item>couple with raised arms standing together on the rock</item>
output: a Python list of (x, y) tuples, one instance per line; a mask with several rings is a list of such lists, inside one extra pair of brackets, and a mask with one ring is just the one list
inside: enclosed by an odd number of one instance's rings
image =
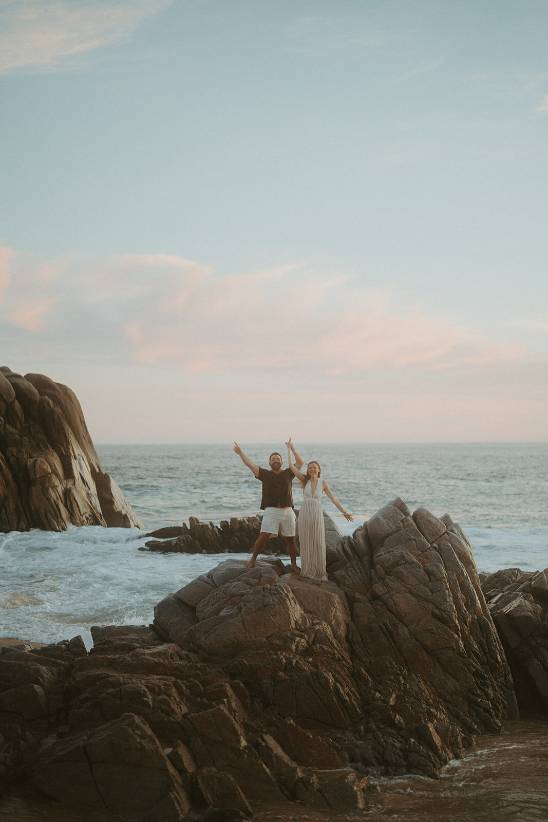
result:
[[(282, 469), (283, 459), (278, 451), (269, 456), (270, 470), (260, 468), (246, 456), (237, 442), (234, 450), (242, 459), (244, 465), (251, 470), (254, 477), (259, 479), (263, 486), (263, 496), (260, 507), (265, 511), (260, 526), (260, 534), (253, 556), (246, 563), (246, 568), (252, 568), (257, 556), (264, 549), (270, 537), (277, 537), (281, 529), (283, 537), (288, 543), (288, 554), (291, 559), (292, 570), (296, 574), (306, 576), (311, 580), (327, 581), (325, 572), (325, 529), (324, 512), (321, 507), (321, 495), (325, 491), (329, 499), (337, 506), (345, 519), (353, 522), (352, 515), (343, 510), (343, 506), (333, 495), (325, 479), (320, 479), (320, 463), (313, 460), (306, 466), (306, 473), (301, 473), (304, 465), (301, 455), (292, 444), (291, 437), (286, 442), (288, 447), (289, 468)], [(293, 455), (295, 462), (293, 462)], [(299, 511), (299, 544), (301, 547), (301, 568), (297, 566), (297, 543), (295, 542), (295, 511), (293, 510), (292, 481), (297, 477), (302, 487), (302, 506)]]

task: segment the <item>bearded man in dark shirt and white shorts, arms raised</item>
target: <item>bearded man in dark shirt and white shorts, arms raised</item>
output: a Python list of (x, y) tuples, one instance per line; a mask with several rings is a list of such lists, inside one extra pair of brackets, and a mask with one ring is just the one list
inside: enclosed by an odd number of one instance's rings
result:
[[(289, 447), (292, 450), (292, 455), (295, 459), (297, 471), (300, 471), (303, 466), (302, 457), (297, 454), (293, 448), (291, 439), (289, 440)], [(288, 543), (288, 554), (291, 559), (292, 570), (296, 574), (300, 573), (299, 566), (297, 566), (297, 543), (295, 542), (295, 512), (293, 510), (293, 496), (291, 483), (293, 481), (293, 473), (289, 468), (282, 470), (283, 460), (277, 451), (269, 457), (270, 470), (260, 468), (247, 457), (237, 442), (234, 443), (234, 450), (242, 459), (242, 463), (250, 469), (256, 477), (260, 480), (263, 486), (263, 496), (260, 501), (260, 507), (265, 511), (263, 521), (260, 526), (260, 534), (253, 547), (253, 556), (251, 560), (246, 562), (246, 568), (252, 568), (257, 556), (268, 543), (270, 537), (277, 537), (281, 529), (283, 537)]]

